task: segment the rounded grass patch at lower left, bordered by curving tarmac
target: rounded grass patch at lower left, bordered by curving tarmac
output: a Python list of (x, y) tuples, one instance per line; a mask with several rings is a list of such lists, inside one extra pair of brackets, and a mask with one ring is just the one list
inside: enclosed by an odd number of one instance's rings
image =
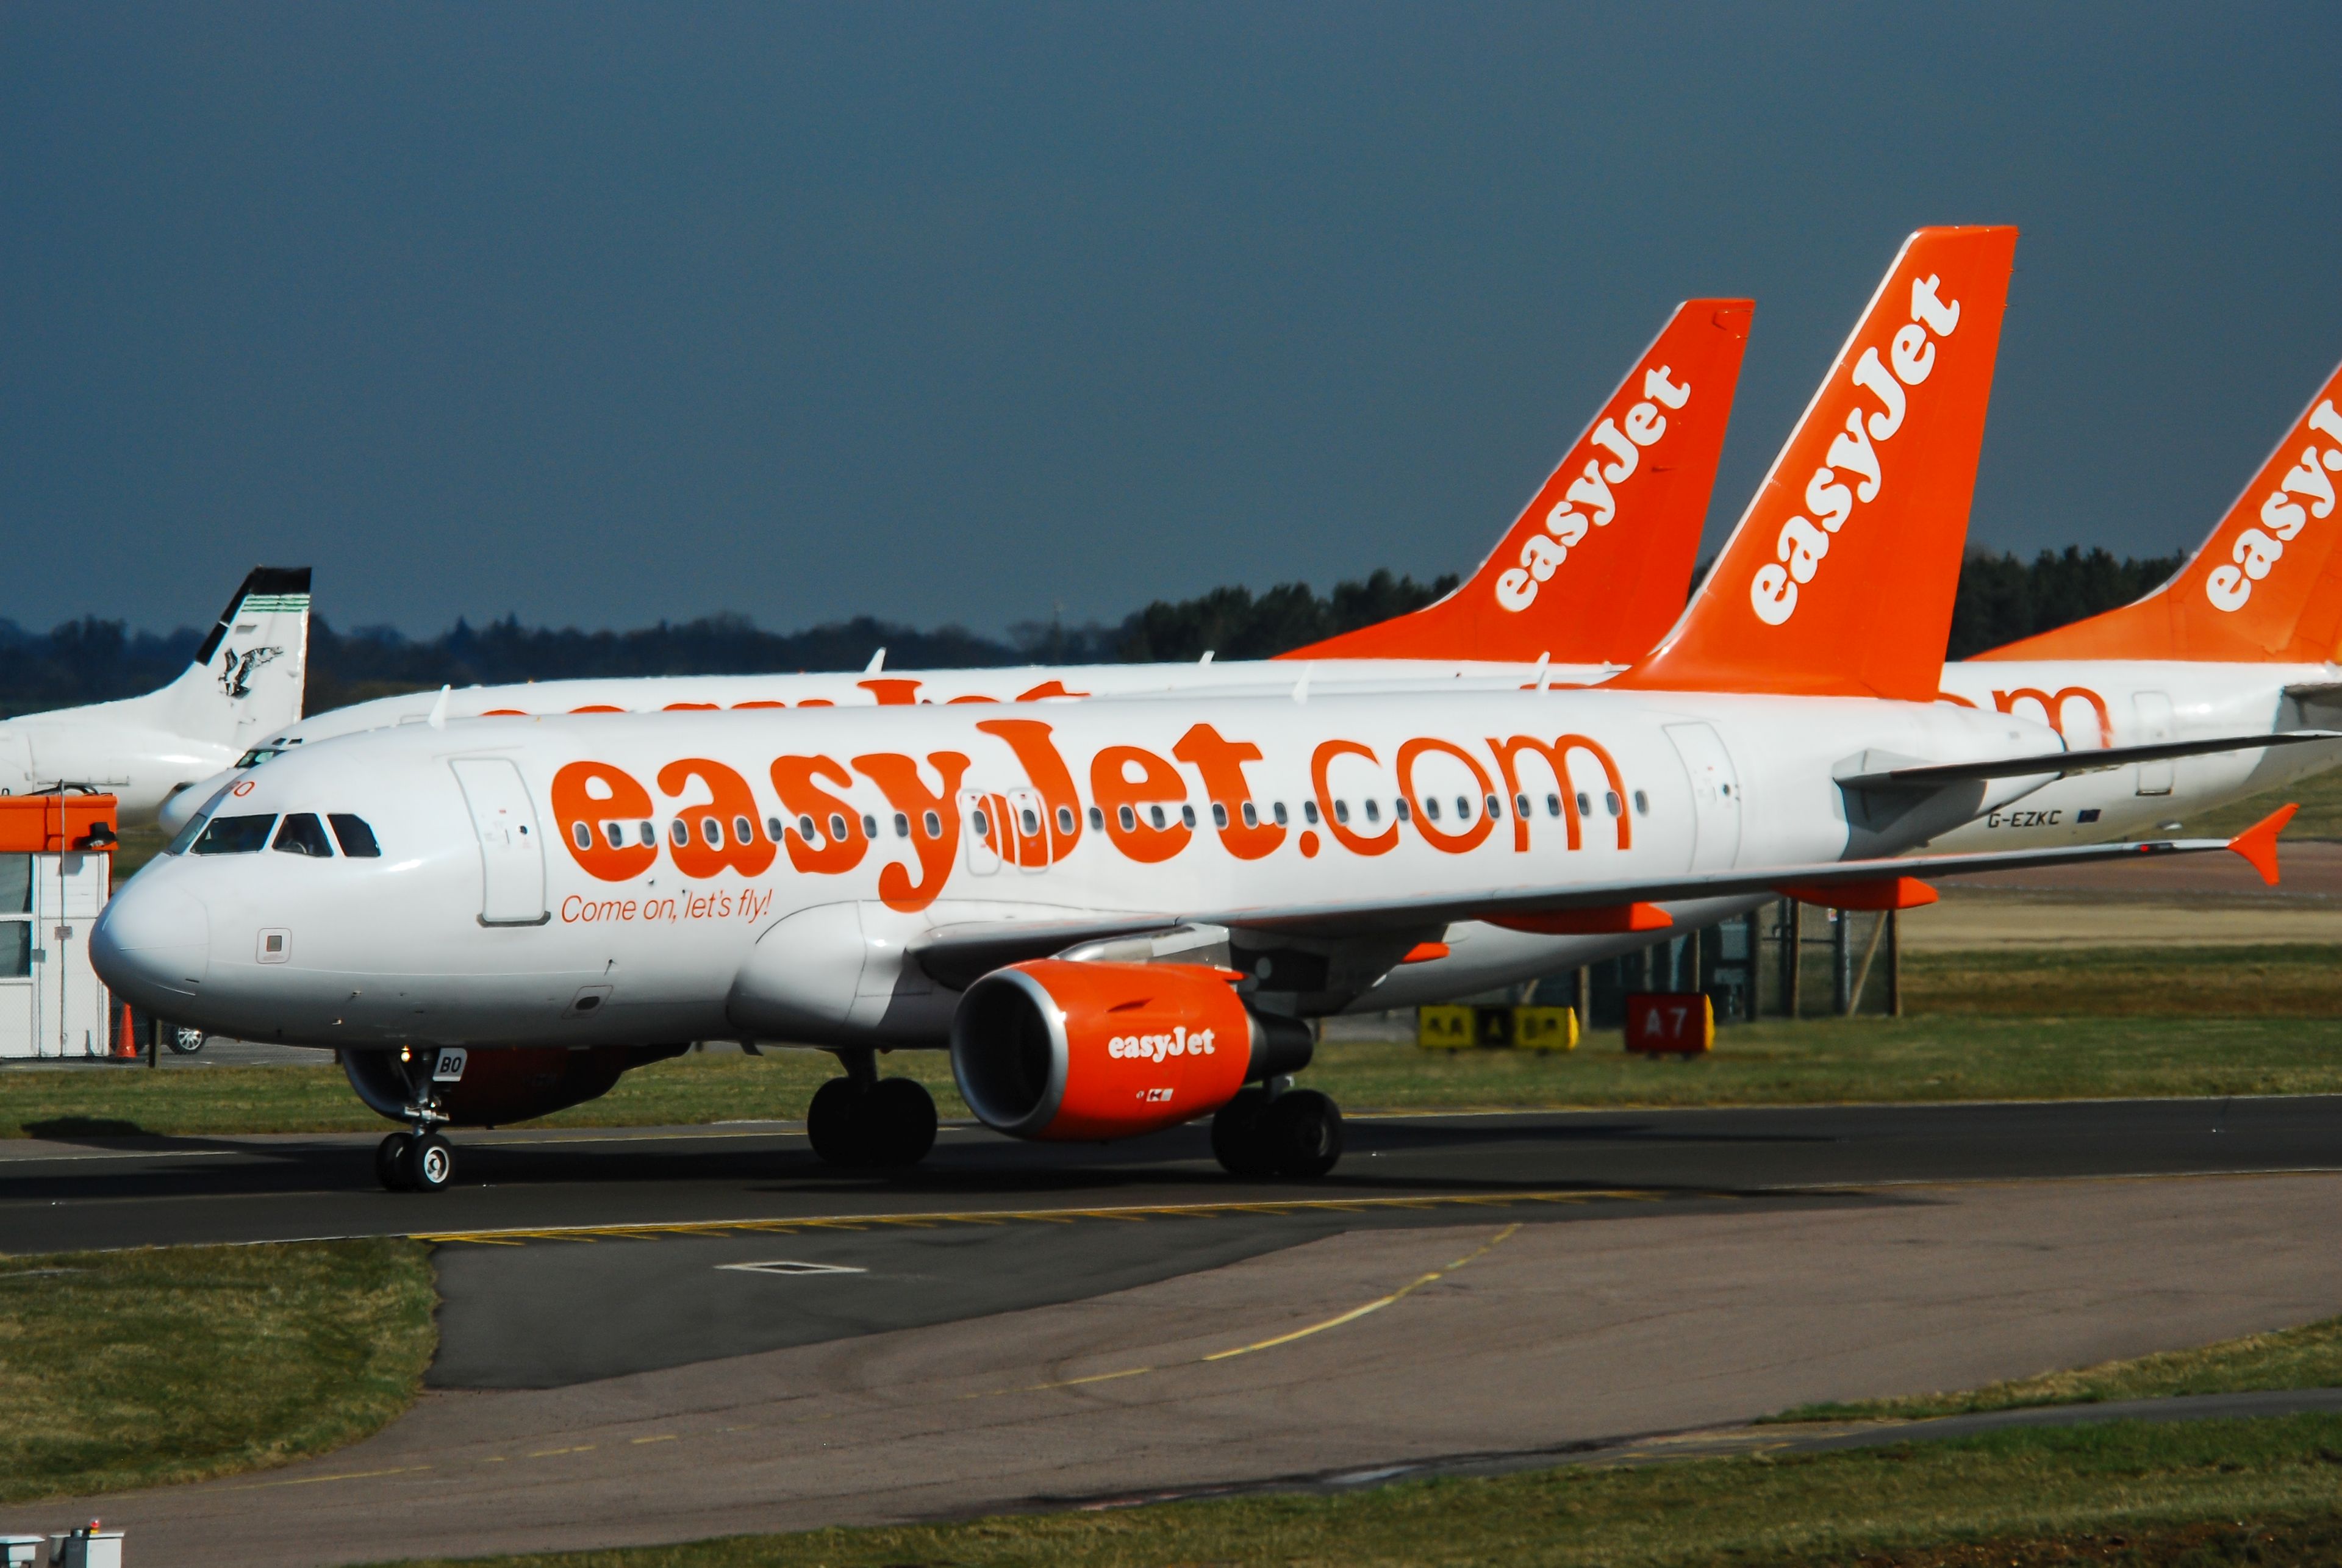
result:
[(436, 1304), (410, 1240), (0, 1259), (0, 1502), (356, 1442), (422, 1388)]

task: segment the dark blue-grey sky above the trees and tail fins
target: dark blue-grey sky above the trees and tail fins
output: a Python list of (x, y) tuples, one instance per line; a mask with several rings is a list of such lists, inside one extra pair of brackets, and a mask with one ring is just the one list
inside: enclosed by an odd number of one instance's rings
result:
[(1693, 293), (1717, 541), (2016, 222), (1972, 538), (2190, 548), (2342, 358), (2337, 7), (0, 7), (0, 615), (1000, 630), (1468, 571)]

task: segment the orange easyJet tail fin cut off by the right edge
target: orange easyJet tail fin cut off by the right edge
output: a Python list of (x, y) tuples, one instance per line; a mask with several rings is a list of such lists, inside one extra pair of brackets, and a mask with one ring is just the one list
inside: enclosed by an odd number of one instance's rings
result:
[(2333, 660), (2342, 641), (2337, 403), (2342, 367), (2276, 442), (2204, 548), (2152, 594), (1974, 658)]

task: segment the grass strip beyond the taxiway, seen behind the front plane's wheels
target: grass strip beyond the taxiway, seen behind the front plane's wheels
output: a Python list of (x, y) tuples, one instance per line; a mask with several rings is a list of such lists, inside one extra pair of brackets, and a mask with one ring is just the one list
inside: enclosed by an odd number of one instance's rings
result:
[[(1614, 1032), (1567, 1055), (1328, 1041), (1304, 1079), (1347, 1109), (2342, 1093), (2342, 967), (2326, 948), (1913, 955), (1904, 995), (1899, 1020), (1728, 1025), (1689, 1062), (1625, 1055)], [(941, 1053), (881, 1065), (967, 1114)], [(820, 1051), (686, 1055), (546, 1126), (796, 1119), (834, 1072)], [(384, 1126), (323, 1065), (0, 1074), (7, 1137)]]

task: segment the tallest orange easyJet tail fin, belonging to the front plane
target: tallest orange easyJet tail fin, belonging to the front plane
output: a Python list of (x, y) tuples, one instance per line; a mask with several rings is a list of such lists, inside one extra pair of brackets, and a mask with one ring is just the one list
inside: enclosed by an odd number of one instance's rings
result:
[(1698, 597), (1614, 686), (1927, 702), (1944, 672), (2016, 229), (1920, 229)]

